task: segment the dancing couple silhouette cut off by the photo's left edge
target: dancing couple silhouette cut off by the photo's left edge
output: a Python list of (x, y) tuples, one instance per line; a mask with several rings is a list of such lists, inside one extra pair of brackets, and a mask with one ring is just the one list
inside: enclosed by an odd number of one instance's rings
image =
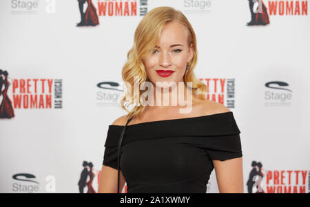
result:
[[(4, 89), (2, 91), (2, 87)], [(0, 118), (12, 118), (14, 117), (14, 109), (12, 107), (12, 101), (8, 97), (8, 87), (10, 82), (8, 81), (8, 72), (0, 69)]]

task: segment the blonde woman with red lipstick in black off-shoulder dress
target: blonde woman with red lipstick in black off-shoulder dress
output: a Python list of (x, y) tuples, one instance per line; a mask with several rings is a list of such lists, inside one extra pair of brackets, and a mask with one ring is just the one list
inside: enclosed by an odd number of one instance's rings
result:
[(134, 77), (141, 84), (149, 81), (157, 103), (161, 87), (156, 82), (182, 83), (184, 94), (178, 90), (182, 85), (176, 85), (163, 95), (194, 94), (192, 108), (180, 113), (184, 107), (172, 101), (144, 105), (128, 89), (122, 103), (132, 98), (135, 106), (131, 111), (122, 106), (128, 114), (109, 125), (99, 193), (118, 192), (118, 141), (130, 118), (121, 146), (120, 189), (126, 182), (127, 193), (206, 193), (215, 168), (220, 193), (243, 193), (240, 131), (227, 107), (205, 99), (207, 87), (193, 73), (196, 35), (182, 12), (170, 7), (149, 11), (136, 28), (127, 58), (122, 76), (132, 88)]

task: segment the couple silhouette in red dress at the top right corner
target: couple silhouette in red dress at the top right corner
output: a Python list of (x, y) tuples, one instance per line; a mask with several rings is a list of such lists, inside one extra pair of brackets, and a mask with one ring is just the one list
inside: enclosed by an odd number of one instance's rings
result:
[(251, 12), (251, 21), (247, 23), (247, 26), (267, 25), (270, 23), (267, 8), (262, 0), (249, 0), (249, 9)]

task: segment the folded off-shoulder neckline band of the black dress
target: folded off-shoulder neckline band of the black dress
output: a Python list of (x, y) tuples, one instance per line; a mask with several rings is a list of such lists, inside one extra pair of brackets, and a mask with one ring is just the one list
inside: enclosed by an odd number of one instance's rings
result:
[[(105, 146), (118, 146), (124, 125), (109, 125)], [(205, 116), (157, 120), (127, 125), (123, 144), (135, 140), (149, 140), (154, 138), (195, 137), (204, 139), (238, 135), (240, 130), (232, 111), (214, 113)]]

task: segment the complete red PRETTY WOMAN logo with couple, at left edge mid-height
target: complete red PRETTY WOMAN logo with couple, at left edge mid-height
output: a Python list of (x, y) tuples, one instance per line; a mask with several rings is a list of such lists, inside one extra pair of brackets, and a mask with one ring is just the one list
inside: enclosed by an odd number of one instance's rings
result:
[(14, 117), (14, 109), (62, 109), (62, 93), (62, 79), (10, 78), (0, 69), (0, 118)]

